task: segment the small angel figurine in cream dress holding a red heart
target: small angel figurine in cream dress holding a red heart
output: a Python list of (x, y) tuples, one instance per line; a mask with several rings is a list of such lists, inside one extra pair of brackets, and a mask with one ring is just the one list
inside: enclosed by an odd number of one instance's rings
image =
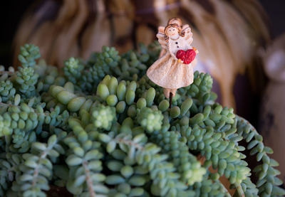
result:
[(147, 70), (147, 77), (155, 84), (164, 87), (165, 97), (172, 97), (180, 87), (193, 82), (193, 66), (198, 50), (191, 46), (191, 28), (182, 26), (180, 18), (171, 18), (166, 27), (160, 26), (157, 33), (162, 50), (160, 58)]

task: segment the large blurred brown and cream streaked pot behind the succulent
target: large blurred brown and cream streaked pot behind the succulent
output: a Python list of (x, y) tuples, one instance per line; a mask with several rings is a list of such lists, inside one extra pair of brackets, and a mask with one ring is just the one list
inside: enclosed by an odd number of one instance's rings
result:
[(266, 14), (257, 0), (38, 1), (16, 34), (14, 60), (24, 43), (39, 46), (43, 58), (60, 67), (68, 57), (86, 59), (103, 45), (124, 52), (139, 42), (151, 43), (157, 26), (174, 16), (192, 27), (193, 46), (200, 51), (197, 69), (211, 73), (224, 105), (235, 107), (237, 75), (247, 78), (250, 74), (250, 84), (246, 83), (250, 92), (262, 89), (263, 83), (255, 78), (260, 81), (256, 51), (270, 36)]

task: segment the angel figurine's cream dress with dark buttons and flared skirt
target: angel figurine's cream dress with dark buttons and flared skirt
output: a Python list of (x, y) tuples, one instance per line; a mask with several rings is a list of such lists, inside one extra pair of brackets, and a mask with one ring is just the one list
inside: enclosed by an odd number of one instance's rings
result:
[[(190, 29), (190, 28), (189, 28)], [(169, 38), (168, 43), (164, 40), (163, 33), (157, 33), (157, 38), (166, 53), (162, 55), (147, 70), (147, 77), (161, 87), (178, 89), (185, 87), (193, 82), (193, 66), (192, 63), (186, 65), (179, 63), (172, 55), (176, 55), (177, 50), (188, 50), (192, 46), (192, 33), (187, 31), (185, 36), (179, 36), (177, 40)], [(171, 54), (172, 53), (172, 54)]]

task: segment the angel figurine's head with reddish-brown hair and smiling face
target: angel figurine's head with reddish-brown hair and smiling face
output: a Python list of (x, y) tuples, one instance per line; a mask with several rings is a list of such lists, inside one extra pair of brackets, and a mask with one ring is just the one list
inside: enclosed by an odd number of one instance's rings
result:
[(185, 33), (182, 33), (182, 21), (180, 18), (171, 18), (165, 27), (165, 41), (168, 41), (169, 37), (176, 36), (177, 34), (180, 36), (185, 35)]

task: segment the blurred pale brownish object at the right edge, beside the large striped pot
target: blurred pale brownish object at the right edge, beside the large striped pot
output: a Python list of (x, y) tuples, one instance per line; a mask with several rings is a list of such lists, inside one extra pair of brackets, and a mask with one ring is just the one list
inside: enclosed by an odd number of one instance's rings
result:
[(261, 55), (270, 81), (260, 108), (259, 132), (264, 143), (274, 149), (272, 158), (279, 162), (277, 169), (285, 181), (285, 34)]

